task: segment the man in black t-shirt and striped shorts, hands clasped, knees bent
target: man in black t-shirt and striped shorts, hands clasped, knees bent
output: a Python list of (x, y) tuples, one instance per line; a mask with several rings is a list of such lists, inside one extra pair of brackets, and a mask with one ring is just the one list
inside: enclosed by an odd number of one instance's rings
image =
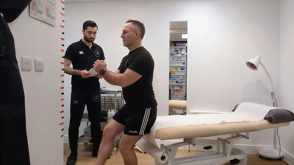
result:
[(143, 23), (126, 21), (121, 38), (123, 46), (129, 49), (118, 70), (113, 73), (106, 69), (106, 62), (97, 60), (94, 69), (100, 78), (108, 83), (121, 86), (126, 104), (113, 116), (103, 130), (96, 165), (104, 165), (113, 149), (117, 134), (123, 132), (119, 150), (124, 164), (138, 164), (133, 146), (144, 135), (150, 133), (157, 116), (157, 102), (152, 80), (154, 61), (151, 54), (141, 45), (145, 34)]

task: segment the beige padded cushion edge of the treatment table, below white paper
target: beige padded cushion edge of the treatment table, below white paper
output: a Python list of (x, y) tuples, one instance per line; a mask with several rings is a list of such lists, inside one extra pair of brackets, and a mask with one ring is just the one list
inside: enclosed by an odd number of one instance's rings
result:
[(181, 138), (201, 138), (212, 137), (225, 134), (237, 134), (275, 127), (284, 127), (290, 125), (290, 122), (271, 124), (263, 119), (258, 122), (222, 122), (220, 124), (203, 124), (180, 127), (168, 127), (158, 129), (155, 138), (160, 140), (171, 140)]

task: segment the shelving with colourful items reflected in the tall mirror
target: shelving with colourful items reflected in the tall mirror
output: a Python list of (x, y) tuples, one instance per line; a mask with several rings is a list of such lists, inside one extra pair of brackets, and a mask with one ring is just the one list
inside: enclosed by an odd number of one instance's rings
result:
[(170, 47), (169, 56), (171, 100), (185, 100), (186, 47)]

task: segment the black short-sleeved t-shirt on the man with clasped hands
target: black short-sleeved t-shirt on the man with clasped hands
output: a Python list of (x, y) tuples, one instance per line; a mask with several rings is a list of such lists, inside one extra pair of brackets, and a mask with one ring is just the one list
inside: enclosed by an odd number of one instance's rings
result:
[(135, 83), (123, 87), (123, 97), (128, 107), (148, 108), (157, 105), (152, 81), (154, 61), (151, 54), (143, 46), (129, 52), (118, 67), (120, 73), (127, 69), (140, 74), (142, 77)]

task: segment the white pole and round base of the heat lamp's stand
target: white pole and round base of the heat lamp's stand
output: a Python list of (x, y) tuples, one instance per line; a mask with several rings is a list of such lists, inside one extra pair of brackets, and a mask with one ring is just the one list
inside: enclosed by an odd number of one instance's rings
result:
[[(270, 95), (273, 99), (273, 107), (276, 107), (275, 91), (271, 91)], [(280, 153), (280, 149), (277, 149), (277, 128), (273, 128), (274, 133), (274, 145), (273, 149), (263, 149), (259, 151), (259, 156), (269, 159), (280, 159), (283, 157), (283, 153)]]

